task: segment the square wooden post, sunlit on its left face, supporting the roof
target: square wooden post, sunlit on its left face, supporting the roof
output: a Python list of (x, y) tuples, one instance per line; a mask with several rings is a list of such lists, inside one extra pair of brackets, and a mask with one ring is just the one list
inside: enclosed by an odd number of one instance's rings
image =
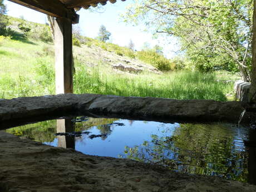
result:
[(56, 18), (54, 26), (56, 94), (73, 93), (72, 22)]

